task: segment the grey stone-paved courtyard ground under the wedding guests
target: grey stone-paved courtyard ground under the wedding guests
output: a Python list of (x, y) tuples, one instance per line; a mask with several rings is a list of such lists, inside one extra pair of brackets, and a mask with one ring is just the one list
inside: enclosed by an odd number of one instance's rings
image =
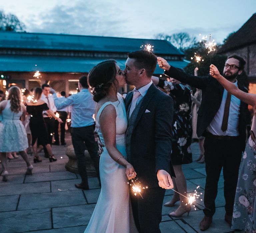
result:
[[(70, 135), (67, 134), (67, 145), (71, 144)], [(199, 155), (198, 145), (192, 144), (193, 160)], [(65, 146), (53, 145), (53, 153), (58, 159), (50, 163), (43, 157), (41, 163), (33, 164), (33, 175), (25, 175), (25, 162), (13, 159), (8, 162), (9, 177), (7, 182), (0, 180), (0, 232), (46, 232), (46, 233), (80, 233), (84, 232), (95, 204), (100, 187), (96, 177), (89, 178), (89, 190), (79, 190), (74, 184), (79, 183), (77, 174), (66, 171)], [(30, 157), (30, 156), (29, 156)], [(33, 161), (33, 157), (30, 157)], [(193, 162), (183, 165), (187, 179), (188, 192), (194, 192), (197, 186), (199, 193), (204, 193), (205, 165)], [(173, 195), (167, 190), (164, 202), (169, 201)], [(198, 202), (203, 204), (202, 201)], [(223, 175), (221, 175), (216, 200), (216, 214), (212, 226), (205, 232), (226, 233), (232, 231), (224, 221)], [(162, 233), (169, 232), (201, 232), (199, 222), (203, 218), (203, 207), (196, 204), (189, 216), (170, 218), (168, 214), (178, 207), (163, 207)], [(99, 216), (100, 218), (100, 216)], [(239, 231), (242, 232), (242, 231)]]

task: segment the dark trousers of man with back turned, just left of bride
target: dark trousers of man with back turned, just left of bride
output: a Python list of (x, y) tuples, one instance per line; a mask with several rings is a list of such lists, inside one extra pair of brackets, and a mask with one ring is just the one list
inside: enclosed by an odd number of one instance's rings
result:
[[(88, 185), (84, 151), (87, 148), (100, 181), (98, 145), (94, 137), (94, 126), (71, 128), (72, 144), (77, 157), (78, 172), (82, 182)], [(86, 148), (85, 148), (86, 147)]]

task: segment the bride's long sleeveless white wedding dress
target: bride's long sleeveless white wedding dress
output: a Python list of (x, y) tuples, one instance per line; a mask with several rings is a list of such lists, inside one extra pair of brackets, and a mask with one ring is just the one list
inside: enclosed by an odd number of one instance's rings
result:
[[(96, 116), (96, 126), (100, 140), (104, 144), (99, 118), (107, 105), (116, 109), (116, 147), (126, 156), (125, 135), (127, 116), (124, 101), (118, 95), (118, 101), (105, 103)], [(104, 147), (100, 155), (101, 192), (85, 233), (136, 233), (129, 196), (128, 179), (125, 167), (115, 162)]]

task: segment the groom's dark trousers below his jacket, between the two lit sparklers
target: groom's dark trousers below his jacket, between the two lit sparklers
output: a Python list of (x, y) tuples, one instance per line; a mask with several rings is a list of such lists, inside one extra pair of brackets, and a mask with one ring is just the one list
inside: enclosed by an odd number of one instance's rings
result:
[(135, 225), (140, 233), (160, 233), (165, 189), (158, 187), (143, 190), (143, 199), (140, 195), (135, 196), (130, 192)]

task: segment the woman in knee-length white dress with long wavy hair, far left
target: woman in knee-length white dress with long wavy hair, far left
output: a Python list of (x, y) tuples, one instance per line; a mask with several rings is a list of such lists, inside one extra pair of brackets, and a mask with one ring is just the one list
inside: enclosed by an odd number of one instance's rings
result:
[(26, 174), (32, 175), (33, 169), (25, 151), (28, 148), (28, 139), (22, 121), (25, 120), (26, 107), (21, 103), (21, 90), (14, 86), (8, 91), (8, 100), (0, 103), (0, 115), (2, 115), (2, 121), (0, 121), (0, 160), (3, 167), (3, 181), (7, 181), (8, 176), (6, 152), (20, 152), (27, 164)]

